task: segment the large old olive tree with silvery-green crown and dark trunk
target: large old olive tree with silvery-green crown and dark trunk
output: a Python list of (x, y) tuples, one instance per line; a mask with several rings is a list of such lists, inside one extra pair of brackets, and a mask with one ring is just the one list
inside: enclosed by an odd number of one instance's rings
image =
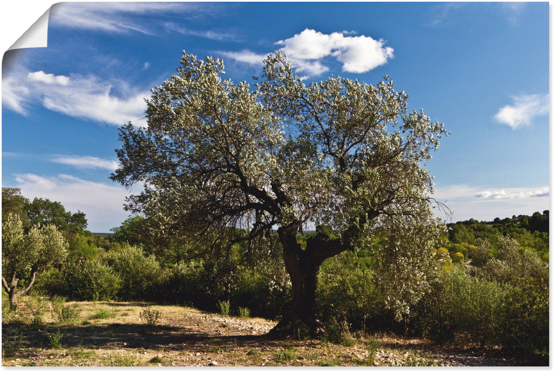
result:
[[(154, 209), (168, 227), (244, 228), (230, 243), (276, 228), (293, 288), (292, 311), (276, 330), (314, 325), (325, 259), (369, 244), (392, 221), (397, 231), (437, 231), (423, 166), (447, 133), (408, 111), (408, 95), (388, 76), (375, 86), (338, 76), (306, 85), (280, 52), (264, 61), (254, 87), (223, 80), (222, 60), (184, 52), (177, 73), (152, 89), (146, 128), (121, 127), (111, 178), (143, 182), (127, 208)], [(314, 237), (297, 238), (316, 224)], [(431, 241), (422, 242), (429, 258)], [(394, 263), (397, 255), (381, 257)]]

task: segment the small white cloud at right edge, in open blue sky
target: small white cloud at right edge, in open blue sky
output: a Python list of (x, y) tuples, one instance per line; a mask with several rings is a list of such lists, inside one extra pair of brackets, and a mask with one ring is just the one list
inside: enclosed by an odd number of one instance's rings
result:
[(548, 95), (519, 95), (512, 97), (511, 105), (501, 108), (495, 119), (507, 126), (516, 129), (531, 125), (537, 116), (548, 113)]

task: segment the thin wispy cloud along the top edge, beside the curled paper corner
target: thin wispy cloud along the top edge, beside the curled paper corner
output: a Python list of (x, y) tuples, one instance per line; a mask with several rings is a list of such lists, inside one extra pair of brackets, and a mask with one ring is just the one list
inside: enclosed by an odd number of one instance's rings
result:
[(183, 2), (63, 2), (52, 6), (54, 27), (80, 28), (109, 33), (154, 34), (155, 25), (141, 17), (152, 14), (199, 14), (214, 11), (213, 4)]

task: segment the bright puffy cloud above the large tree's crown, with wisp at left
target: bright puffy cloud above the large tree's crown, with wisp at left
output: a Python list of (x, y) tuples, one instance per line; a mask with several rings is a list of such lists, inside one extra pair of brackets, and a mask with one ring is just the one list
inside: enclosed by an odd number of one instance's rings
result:
[[(356, 32), (343, 31), (324, 34), (312, 29), (305, 29), (293, 37), (279, 40), (276, 45), (291, 60), (296, 71), (306, 75), (319, 75), (328, 71), (324, 58), (332, 57), (342, 63), (342, 70), (349, 73), (365, 73), (387, 63), (394, 57), (394, 50), (386, 47), (383, 39), (371, 37), (348, 36)], [(242, 52), (219, 52), (224, 57), (239, 62), (260, 65), (266, 54), (257, 54), (248, 49)]]

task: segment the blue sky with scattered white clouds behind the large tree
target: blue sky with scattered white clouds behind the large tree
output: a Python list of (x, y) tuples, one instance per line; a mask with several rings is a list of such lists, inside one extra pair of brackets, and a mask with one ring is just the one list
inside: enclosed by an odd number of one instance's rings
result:
[[(2, 186), (119, 226), (117, 126), (181, 51), (252, 80), (284, 49), (304, 81), (388, 74), (452, 132), (428, 168), (454, 221), (549, 208), (548, 3), (59, 3), (48, 48), (4, 54)], [(138, 189), (135, 188), (135, 192)]]

